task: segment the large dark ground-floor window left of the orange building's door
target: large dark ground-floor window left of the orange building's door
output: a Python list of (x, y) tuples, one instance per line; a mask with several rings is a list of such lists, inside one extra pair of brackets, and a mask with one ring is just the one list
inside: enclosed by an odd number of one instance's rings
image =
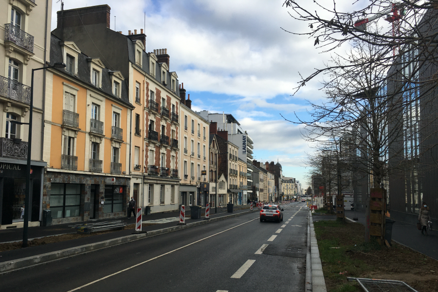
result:
[(81, 185), (76, 183), (52, 183), (50, 190), (50, 210), (52, 218), (79, 216)]

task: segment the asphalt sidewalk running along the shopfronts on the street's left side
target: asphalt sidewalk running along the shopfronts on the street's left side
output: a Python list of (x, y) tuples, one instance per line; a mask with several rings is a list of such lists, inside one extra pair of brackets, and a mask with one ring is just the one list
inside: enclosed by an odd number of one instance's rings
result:
[[(240, 208), (242, 208), (242, 209), (240, 209)], [(237, 209), (240, 209), (240, 210), (237, 210)], [(215, 214), (214, 213), (215, 209), (213, 208), (213, 209), (210, 209), (210, 218), (215, 219), (215, 218), (219, 218), (219, 217), (223, 217), (223, 216), (227, 216), (227, 215), (233, 215), (233, 214), (237, 215), (239, 213), (244, 213), (244, 212), (248, 212), (248, 211), (250, 211), (250, 210), (249, 210), (249, 206), (247, 206), (247, 205), (235, 206), (233, 213), (227, 213), (227, 209), (225, 207), (225, 208), (218, 208), (218, 213)], [(257, 208), (254, 208), (253, 211), (257, 212)], [(190, 214), (189, 212), (186, 211), (186, 216), (187, 216), (187, 213)], [(156, 213), (156, 214), (151, 214), (151, 215), (147, 215), (147, 216), (144, 215), (143, 222), (145, 222), (147, 220), (157, 220), (157, 219), (174, 218), (174, 217), (179, 217), (179, 212)], [(122, 220), (128, 224), (135, 223), (135, 219), (133, 219), (133, 218), (131, 218), (131, 219), (119, 218), (119, 219), (112, 219), (112, 220)], [(91, 223), (91, 222), (98, 222), (98, 221), (110, 221), (110, 220), (96, 220), (96, 221), (87, 221), (87, 222)], [(187, 224), (195, 223), (195, 222), (199, 222), (199, 221), (204, 221), (203, 217), (201, 217), (200, 219), (190, 219), (189, 217), (185, 218), (185, 222)], [(84, 222), (77, 222), (74, 224), (71, 224), (71, 223), (70, 224), (60, 224), (60, 225), (45, 226), (45, 227), (42, 227), (42, 226), (41, 227), (32, 227), (32, 228), (29, 228), (29, 238), (42, 237), (42, 236), (55, 236), (55, 235), (60, 235), (60, 234), (72, 233), (72, 232), (75, 233), (75, 231), (73, 229), (71, 229), (71, 227), (69, 227), (69, 226), (79, 224), (79, 223), (84, 223)], [(166, 223), (154, 224), (154, 225), (150, 225), (150, 226), (142, 226), (142, 230), (149, 233), (151, 231), (157, 231), (157, 230), (166, 229), (166, 228), (173, 228), (173, 227), (177, 226), (177, 223), (178, 223), (178, 221), (176, 220), (176, 221), (171, 221), (171, 222), (166, 222)], [(108, 240), (112, 240), (112, 239), (116, 239), (116, 238), (127, 237), (127, 236), (132, 235), (133, 231), (134, 231), (133, 229), (114, 231), (114, 232), (110, 232), (110, 233), (106, 233), (106, 234), (98, 234), (98, 235), (92, 235), (89, 237), (82, 237), (82, 238), (76, 238), (76, 239), (72, 239), (72, 240), (66, 240), (66, 241), (55, 242), (55, 243), (50, 243), (50, 244), (32, 246), (32, 247), (28, 247), (28, 248), (21, 248), (21, 249), (16, 249), (16, 250), (11, 250), (11, 251), (4, 251), (4, 252), (0, 252), (0, 263), (14, 261), (14, 260), (22, 259), (25, 257), (32, 257), (32, 256), (38, 256), (38, 255), (47, 254), (47, 253), (53, 253), (53, 252), (71, 249), (71, 248), (84, 246), (84, 245), (88, 245), (88, 244), (97, 244), (99, 242), (104, 242), (104, 241), (108, 241)], [(21, 240), (22, 234), (23, 234), (22, 228), (13, 229), (13, 230), (11, 230), (11, 229), (1, 230), (0, 231), (1, 242)]]

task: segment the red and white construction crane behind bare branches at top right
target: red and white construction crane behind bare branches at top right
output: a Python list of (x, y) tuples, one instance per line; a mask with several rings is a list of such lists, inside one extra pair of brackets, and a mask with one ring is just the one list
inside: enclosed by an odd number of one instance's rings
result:
[[(364, 18), (358, 20), (354, 23), (354, 26), (360, 30), (366, 30), (366, 24), (375, 19), (386, 17), (385, 20), (392, 23), (392, 36), (394, 37), (394, 41), (396, 37), (400, 35), (400, 19), (405, 15), (404, 8), (400, 8), (399, 3), (392, 3), (392, 7), (383, 9), (382, 11), (377, 12), (370, 18)], [(393, 54), (396, 55), (398, 50), (398, 46), (394, 46)]]

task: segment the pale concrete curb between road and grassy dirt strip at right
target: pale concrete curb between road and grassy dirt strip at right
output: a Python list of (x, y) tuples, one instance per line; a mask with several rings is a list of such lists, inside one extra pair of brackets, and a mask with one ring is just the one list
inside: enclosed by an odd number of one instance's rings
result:
[(309, 213), (310, 225), (310, 258), (312, 271), (312, 292), (327, 292), (326, 280), (321, 265), (321, 258), (319, 257), (318, 242), (316, 241), (315, 228), (313, 227), (312, 213)]

